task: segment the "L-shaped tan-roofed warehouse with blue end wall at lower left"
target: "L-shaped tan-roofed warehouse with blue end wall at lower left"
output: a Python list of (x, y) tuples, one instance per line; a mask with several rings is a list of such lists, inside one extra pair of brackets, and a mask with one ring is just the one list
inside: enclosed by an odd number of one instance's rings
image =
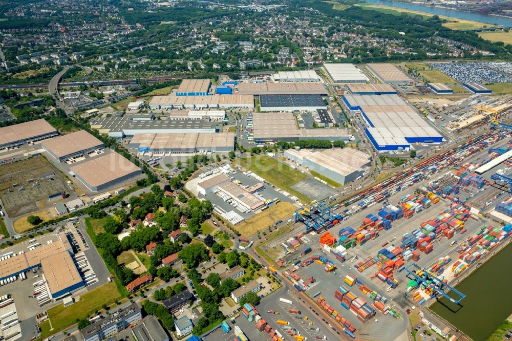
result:
[(0, 280), (41, 267), (50, 299), (57, 300), (84, 287), (73, 261), (72, 248), (63, 233), (58, 240), (0, 261)]

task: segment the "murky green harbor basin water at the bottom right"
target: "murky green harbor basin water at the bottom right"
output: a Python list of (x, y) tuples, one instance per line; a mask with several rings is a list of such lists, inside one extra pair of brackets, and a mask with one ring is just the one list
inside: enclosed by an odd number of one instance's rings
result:
[(466, 295), (459, 305), (443, 298), (431, 309), (475, 341), (486, 340), (512, 313), (510, 260), (512, 244), (456, 286)]

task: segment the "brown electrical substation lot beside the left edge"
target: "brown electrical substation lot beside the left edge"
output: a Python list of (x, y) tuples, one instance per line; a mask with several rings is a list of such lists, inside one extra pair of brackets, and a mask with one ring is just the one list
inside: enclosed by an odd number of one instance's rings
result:
[(9, 217), (45, 209), (48, 196), (69, 191), (66, 181), (42, 156), (0, 166), (0, 197)]

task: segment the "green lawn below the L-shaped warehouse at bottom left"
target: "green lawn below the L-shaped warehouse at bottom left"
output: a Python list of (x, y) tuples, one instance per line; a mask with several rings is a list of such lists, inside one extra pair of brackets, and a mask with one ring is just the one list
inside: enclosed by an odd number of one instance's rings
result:
[(91, 290), (80, 296), (80, 301), (69, 307), (60, 304), (48, 309), (48, 317), (52, 323), (53, 329), (50, 330), (49, 323), (41, 324), (41, 337), (45, 338), (55, 334), (65, 328), (75, 324), (77, 318), (84, 318), (91, 315), (96, 310), (101, 310), (103, 304), (110, 305), (120, 299), (121, 295), (117, 291), (114, 282), (106, 283), (94, 290)]

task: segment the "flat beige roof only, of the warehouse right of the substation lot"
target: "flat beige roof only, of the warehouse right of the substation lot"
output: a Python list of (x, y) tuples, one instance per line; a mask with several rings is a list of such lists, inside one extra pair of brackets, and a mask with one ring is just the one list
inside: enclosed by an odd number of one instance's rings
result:
[(90, 186), (101, 186), (110, 181), (140, 171), (140, 168), (121, 155), (112, 152), (71, 167), (71, 171)]

